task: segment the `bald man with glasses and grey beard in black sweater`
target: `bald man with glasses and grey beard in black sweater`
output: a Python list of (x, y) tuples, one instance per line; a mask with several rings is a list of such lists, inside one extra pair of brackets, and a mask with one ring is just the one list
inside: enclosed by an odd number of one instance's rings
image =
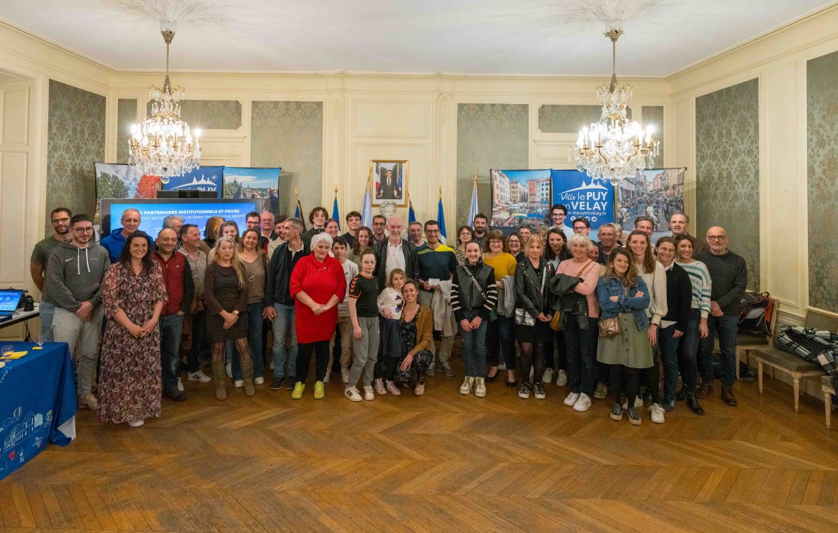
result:
[(722, 226), (714, 225), (707, 230), (709, 251), (696, 254), (710, 272), (712, 289), (710, 293), (710, 316), (707, 317), (708, 335), (701, 339), (698, 349), (698, 370), (701, 374), (701, 389), (698, 397), (713, 396), (713, 340), (719, 337), (722, 351), (722, 401), (729, 406), (737, 405), (733, 396), (733, 381), (736, 379), (736, 335), (739, 322), (739, 300), (747, 285), (747, 265), (742, 256), (727, 249), (727, 232)]

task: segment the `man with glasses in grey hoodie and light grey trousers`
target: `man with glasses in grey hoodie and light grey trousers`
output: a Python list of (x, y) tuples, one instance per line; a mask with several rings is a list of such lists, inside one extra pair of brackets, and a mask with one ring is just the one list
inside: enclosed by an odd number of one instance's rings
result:
[[(95, 410), (91, 394), (93, 372), (101, 341), (101, 281), (111, 260), (105, 248), (93, 241), (93, 221), (87, 215), (70, 220), (70, 241), (62, 242), (49, 254), (44, 285), (54, 300), (53, 338), (70, 344), (79, 375), (79, 406)], [(81, 340), (81, 357), (75, 343)]]

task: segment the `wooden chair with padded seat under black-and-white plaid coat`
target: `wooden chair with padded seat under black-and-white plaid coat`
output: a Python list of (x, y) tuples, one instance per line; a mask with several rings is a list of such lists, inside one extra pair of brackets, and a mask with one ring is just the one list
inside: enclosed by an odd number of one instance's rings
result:
[[(835, 331), (838, 330), (838, 317), (809, 310), (806, 311), (804, 327)], [(807, 377), (820, 377), (824, 375), (824, 370), (817, 363), (804, 360), (799, 355), (789, 354), (789, 352), (774, 348), (774, 339), (777, 339), (778, 333), (779, 329), (775, 329), (771, 337), (771, 344), (748, 348), (745, 353), (746, 356), (748, 354), (753, 355), (754, 360), (757, 361), (757, 380), (760, 394), (763, 393), (763, 365), (768, 365), (772, 369), (772, 378), (774, 369), (791, 375), (792, 380), (794, 380), (794, 412), (799, 412), (800, 380)]]

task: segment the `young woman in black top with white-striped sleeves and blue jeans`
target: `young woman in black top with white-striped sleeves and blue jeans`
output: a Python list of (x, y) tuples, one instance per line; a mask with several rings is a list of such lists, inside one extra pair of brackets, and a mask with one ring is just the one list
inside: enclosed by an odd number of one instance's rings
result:
[(465, 245), (465, 263), (457, 266), (451, 284), (451, 308), (463, 337), (463, 366), (466, 377), (460, 394), (474, 391), (474, 396), (486, 396), (486, 330), (489, 313), (498, 303), (498, 289), (494, 269), (480, 259), (480, 245), (469, 241)]

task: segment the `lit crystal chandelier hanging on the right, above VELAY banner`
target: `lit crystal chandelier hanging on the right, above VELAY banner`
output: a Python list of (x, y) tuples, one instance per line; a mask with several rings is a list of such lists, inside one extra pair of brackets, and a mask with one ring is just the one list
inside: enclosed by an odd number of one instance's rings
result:
[(616, 70), (617, 39), (622, 34), (622, 21), (611, 21), (611, 29), (605, 34), (611, 39), (611, 83), (597, 87), (603, 114), (599, 122), (582, 128), (573, 149), (580, 172), (595, 179), (608, 179), (612, 184), (652, 168), (659, 144), (652, 138), (652, 127), (644, 130), (638, 122), (626, 118), (632, 86), (619, 86)]

